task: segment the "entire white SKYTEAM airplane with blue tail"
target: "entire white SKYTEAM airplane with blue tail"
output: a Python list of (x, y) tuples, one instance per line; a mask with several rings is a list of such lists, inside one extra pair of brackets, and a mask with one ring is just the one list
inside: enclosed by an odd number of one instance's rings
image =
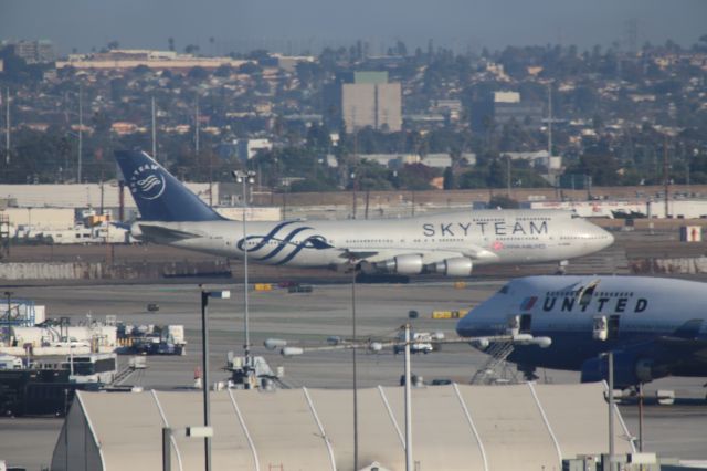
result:
[(481, 210), (402, 219), (228, 220), (140, 150), (116, 160), (141, 219), (136, 239), (268, 265), (365, 273), (468, 276), (475, 265), (566, 262), (613, 243), (603, 229), (560, 210)]

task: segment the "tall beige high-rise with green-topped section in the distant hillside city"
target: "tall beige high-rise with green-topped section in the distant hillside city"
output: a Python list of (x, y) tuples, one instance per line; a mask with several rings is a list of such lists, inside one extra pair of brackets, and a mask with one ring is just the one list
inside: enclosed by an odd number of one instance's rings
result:
[(324, 106), (327, 123), (348, 132), (370, 126), (393, 133), (402, 127), (402, 88), (388, 82), (388, 72), (337, 75), (325, 91)]

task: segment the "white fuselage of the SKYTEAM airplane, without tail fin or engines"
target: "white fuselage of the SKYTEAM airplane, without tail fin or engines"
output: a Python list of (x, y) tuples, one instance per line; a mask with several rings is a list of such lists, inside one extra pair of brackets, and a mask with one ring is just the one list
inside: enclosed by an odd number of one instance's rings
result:
[[(368, 262), (390, 259), (401, 252), (420, 253), (424, 263), (468, 257), (474, 264), (536, 263), (573, 259), (599, 251), (613, 242), (602, 229), (552, 210), (482, 210), (403, 219), (345, 221), (247, 222), (243, 238), (241, 221), (158, 222), (194, 237), (179, 240), (151, 239), (184, 249), (242, 258), (272, 265), (333, 266), (347, 254), (368, 254)], [(145, 231), (143, 231), (145, 232)], [(362, 257), (361, 257), (362, 258)]]

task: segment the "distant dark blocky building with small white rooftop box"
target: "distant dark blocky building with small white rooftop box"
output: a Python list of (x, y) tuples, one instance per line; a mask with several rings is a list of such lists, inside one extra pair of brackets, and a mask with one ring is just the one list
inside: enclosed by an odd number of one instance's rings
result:
[(524, 102), (518, 92), (494, 92), (485, 100), (472, 103), (472, 129), (486, 132), (490, 124), (504, 125), (515, 121), (520, 126), (540, 126), (542, 103)]

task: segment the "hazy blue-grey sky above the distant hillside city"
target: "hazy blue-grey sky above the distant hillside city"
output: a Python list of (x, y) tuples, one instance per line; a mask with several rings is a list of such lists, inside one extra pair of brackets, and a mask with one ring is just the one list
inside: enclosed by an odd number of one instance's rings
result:
[[(260, 45), (293, 52), (356, 39), (465, 51), (508, 44), (640, 46), (666, 39), (689, 45), (707, 33), (707, 0), (0, 0), (0, 39), (50, 39), (60, 52), (87, 52), (117, 40), (125, 48), (204, 52)], [(213, 45), (209, 39), (214, 38)], [(288, 43), (289, 41), (289, 43)], [(210, 51), (212, 49), (212, 51)], [(286, 51), (285, 51), (286, 52)]]

